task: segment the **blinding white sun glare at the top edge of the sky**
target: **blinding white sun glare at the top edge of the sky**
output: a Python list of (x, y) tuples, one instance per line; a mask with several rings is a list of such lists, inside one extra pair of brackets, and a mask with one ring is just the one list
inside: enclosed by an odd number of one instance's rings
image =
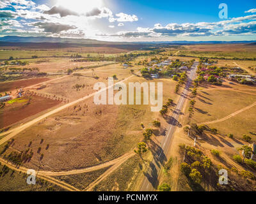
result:
[(58, 0), (58, 6), (63, 6), (77, 13), (86, 13), (92, 11), (93, 8), (101, 7), (102, 0)]

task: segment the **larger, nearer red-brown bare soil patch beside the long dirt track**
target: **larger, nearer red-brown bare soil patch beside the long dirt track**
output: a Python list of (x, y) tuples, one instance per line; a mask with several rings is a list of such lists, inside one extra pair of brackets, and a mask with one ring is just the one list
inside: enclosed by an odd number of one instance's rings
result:
[[(22, 99), (29, 101), (28, 96), (24, 96)], [(35, 115), (61, 103), (60, 101), (53, 101), (52, 99), (42, 98), (40, 96), (31, 96), (30, 103), (28, 101), (12, 104), (6, 103), (6, 106), (0, 110), (0, 128), (10, 126), (15, 122), (19, 122), (22, 119), (26, 119), (31, 115)]]

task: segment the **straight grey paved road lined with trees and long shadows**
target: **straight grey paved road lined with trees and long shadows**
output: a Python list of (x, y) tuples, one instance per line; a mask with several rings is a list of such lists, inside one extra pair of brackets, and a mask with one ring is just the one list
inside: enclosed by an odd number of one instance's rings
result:
[(154, 159), (150, 163), (147, 173), (145, 173), (145, 179), (142, 182), (141, 191), (154, 191), (154, 189), (158, 186), (158, 175), (161, 170), (161, 167), (163, 166), (164, 161), (167, 161), (166, 153), (168, 152), (168, 149), (170, 149), (171, 140), (175, 128), (176, 126), (179, 126), (179, 115), (184, 105), (184, 101), (186, 101), (186, 96), (189, 91), (189, 85), (191, 84), (191, 81), (194, 80), (196, 77), (197, 66), (198, 62), (194, 62), (188, 76), (188, 82), (186, 84), (186, 87), (182, 94), (180, 95), (179, 102), (177, 103), (177, 106), (173, 111), (172, 117), (170, 117), (170, 126), (166, 131), (166, 136), (164, 137), (160, 146), (157, 146), (157, 144), (155, 144), (154, 148), (151, 149)]

